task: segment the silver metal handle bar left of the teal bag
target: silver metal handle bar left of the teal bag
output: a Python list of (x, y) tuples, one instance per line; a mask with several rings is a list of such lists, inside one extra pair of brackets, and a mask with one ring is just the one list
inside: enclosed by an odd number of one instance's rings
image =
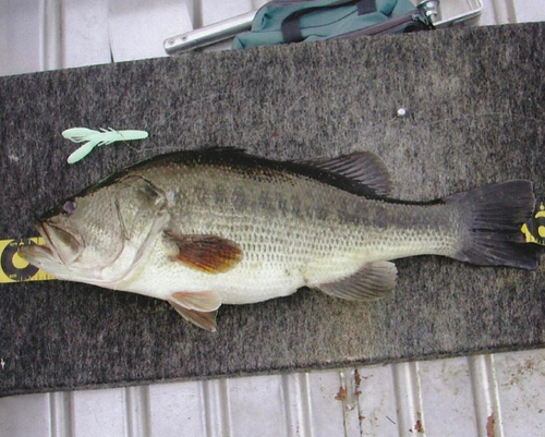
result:
[(164, 43), (165, 50), (168, 54), (181, 53), (232, 38), (252, 27), (252, 21), (257, 11), (247, 12), (243, 15), (168, 38)]

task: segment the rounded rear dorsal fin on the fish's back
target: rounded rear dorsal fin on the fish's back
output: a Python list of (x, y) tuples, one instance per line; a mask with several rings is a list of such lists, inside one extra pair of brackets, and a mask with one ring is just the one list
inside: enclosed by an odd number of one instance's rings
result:
[(386, 165), (372, 151), (356, 151), (337, 158), (299, 161), (299, 163), (317, 167), (349, 179), (353, 185), (352, 190), (360, 195), (385, 197), (392, 190)]

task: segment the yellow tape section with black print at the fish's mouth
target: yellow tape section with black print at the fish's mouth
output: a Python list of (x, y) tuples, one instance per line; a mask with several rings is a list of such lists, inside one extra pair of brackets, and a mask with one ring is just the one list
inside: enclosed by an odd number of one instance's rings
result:
[(0, 240), (0, 283), (47, 281), (55, 279), (52, 275), (28, 264), (19, 256), (17, 251), (22, 245), (39, 244), (46, 242), (41, 236), (20, 240)]

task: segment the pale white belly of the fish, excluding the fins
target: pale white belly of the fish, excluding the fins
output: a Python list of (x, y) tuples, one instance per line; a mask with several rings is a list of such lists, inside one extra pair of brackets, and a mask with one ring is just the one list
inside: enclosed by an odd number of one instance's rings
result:
[(335, 230), (322, 230), (319, 235), (306, 235), (306, 244), (295, 242), (283, 250), (263, 243), (257, 251), (255, 245), (250, 248), (252, 244), (245, 244), (244, 259), (221, 274), (203, 272), (172, 260), (172, 247), (161, 241), (120, 289), (162, 300), (175, 292), (214, 291), (223, 304), (247, 304), (286, 296), (305, 286), (319, 288), (342, 280), (370, 262), (447, 253), (456, 242), (444, 235), (408, 235), (403, 230), (390, 231), (388, 236), (361, 229), (353, 229), (352, 238), (339, 236)]

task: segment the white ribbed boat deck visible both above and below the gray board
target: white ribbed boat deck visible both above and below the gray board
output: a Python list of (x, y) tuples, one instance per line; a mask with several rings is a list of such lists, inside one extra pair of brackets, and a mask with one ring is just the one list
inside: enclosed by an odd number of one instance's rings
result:
[[(0, 75), (165, 56), (162, 39), (263, 3), (3, 0)], [(480, 2), (443, 3), (463, 12)], [(483, 5), (481, 25), (545, 20), (541, 0)], [(145, 34), (132, 31), (140, 20)], [(0, 399), (0, 437), (518, 437), (544, 435), (544, 422), (543, 349)]]

